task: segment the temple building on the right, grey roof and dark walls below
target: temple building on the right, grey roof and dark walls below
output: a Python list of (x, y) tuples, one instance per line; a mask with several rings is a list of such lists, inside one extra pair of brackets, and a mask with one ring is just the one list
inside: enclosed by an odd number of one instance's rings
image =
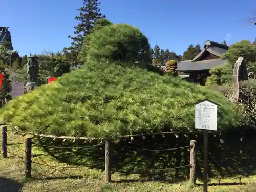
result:
[(176, 70), (187, 74), (186, 80), (204, 86), (207, 77), (210, 76), (210, 69), (222, 66), (226, 62), (221, 56), (227, 50), (228, 46), (207, 40), (203, 50), (194, 59), (177, 63)]

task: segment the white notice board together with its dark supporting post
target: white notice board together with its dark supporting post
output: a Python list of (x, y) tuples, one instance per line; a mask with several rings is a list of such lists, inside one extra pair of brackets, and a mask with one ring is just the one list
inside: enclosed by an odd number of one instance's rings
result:
[(208, 186), (208, 130), (217, 130), (217, 104), (204, 99), (195, 106), (195, 127), (204, 130), (204, 192)]

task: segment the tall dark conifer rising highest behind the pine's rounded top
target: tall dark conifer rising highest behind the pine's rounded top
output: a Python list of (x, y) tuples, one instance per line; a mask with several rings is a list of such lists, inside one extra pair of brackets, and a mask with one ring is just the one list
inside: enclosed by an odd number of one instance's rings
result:
[(74, 37), (69, 36), (73, 42), (71, 42), (71, 47), (66, 48), (66, 50), (73, 50), (76, 54), (81, 51), (83, 39), (85, 36), (89, 35), (94, 23), (99, 18), (105, 18), (105, 15), (100, 13), (98, 6), (100, 3), (98, 0), (83, 0), (83, 6), (80, 9), (80, 15), (75, 17), (80, 23), (74, 26), (75, 31)]

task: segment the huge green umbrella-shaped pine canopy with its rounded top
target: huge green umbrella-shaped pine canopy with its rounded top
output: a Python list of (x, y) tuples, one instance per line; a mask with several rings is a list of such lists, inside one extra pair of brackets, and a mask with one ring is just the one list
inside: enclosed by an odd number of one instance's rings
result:
[(86, 65), (11, 100), (1, 121), (24, 131), (88, 137), (194, 131), (193, 103), (207, 98), (220, 105), (218, 129), (241, 123), (221, 94), (149, 71), (149, 44), (137, 28), (103, 27), (90, 45)]

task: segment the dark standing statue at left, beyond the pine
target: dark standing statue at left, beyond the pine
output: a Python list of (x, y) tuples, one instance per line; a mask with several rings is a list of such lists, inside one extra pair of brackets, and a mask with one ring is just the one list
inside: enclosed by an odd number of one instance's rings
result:
[(35, 56), (35, 55), (32, 55), (32, 56), (28, 57), (27, 78), (29, 79), (30, 83), (36, 83), (37, 82), (39, 63), (36, 59), (38, 59), (38, 57)]

